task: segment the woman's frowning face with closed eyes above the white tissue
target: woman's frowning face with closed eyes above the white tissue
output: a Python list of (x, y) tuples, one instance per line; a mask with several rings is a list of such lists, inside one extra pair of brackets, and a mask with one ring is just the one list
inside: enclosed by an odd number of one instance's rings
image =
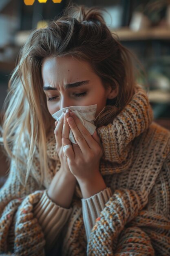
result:
[(86, 61), (71, 56), (48, 57), (42, 63), (43, 90), (50, 114), (69, 106), (97, 104), (95, 117), (106, 106), (109, 90)]

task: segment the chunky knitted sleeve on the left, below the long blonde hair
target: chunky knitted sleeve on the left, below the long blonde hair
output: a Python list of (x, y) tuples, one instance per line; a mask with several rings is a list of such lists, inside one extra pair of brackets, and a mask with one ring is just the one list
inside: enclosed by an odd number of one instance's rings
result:
[(32, 211), (33, 204), (40, 200), (43, 193), (37, 187), (31, 176), (26, 186), (21, 184), (12, 160), (7, 181), (0, 189), (1, 254), (29, 255), (33, 252), (34, 255), (44, 256), (44, 234)]

